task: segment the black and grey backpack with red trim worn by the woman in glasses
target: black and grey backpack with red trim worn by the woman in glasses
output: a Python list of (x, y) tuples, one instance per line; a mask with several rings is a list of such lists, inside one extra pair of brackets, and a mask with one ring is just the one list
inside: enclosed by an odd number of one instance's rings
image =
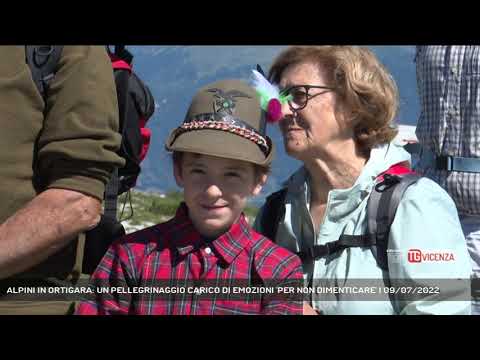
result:
[[(388, 270), (388, 236), (390, 227), (400, 200), (407, 188), (416, 183), (420, 176), (410, 169), (397, 164), (379, 176), (379, 182), (370, 195), (367, 204), (367, 234), (341, 235), (338, 240), (324, 245), (314, 245), (311, 248), (298, 252), (302, 262), (313, 261), (321, 257), (339, 252), (349, 247), (369, 247), (378, 266)], [(285, 197), (287, 189), (283, 188), (267, 197), (261, 218), (262, 234), (272, 241), (276, 241), (279, 222), (285, 215)]]

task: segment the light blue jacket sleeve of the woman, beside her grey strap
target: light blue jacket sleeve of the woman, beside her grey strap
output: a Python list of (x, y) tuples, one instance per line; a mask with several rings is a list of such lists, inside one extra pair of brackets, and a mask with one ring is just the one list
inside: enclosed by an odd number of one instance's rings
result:
[(422, 178), (399, 204), (389, 238), (400, 314), (470, 314), (471, 262), (453, 200)]

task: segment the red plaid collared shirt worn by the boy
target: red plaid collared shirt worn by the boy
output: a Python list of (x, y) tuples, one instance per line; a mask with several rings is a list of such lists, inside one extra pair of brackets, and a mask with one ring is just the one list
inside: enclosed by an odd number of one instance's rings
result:
[[(302, 286), (300, 259), (254, 232), (245, 217), (213, 241), (195, 230), (184, 203), (175, 217), (163, 224), (127, 235), (115, 242), (95, 273), (91, 284), (152, 288), (154, 284), (251, 285), (255, 288)], [(267, 286), (268, 287), (268, 286)], [(183, 290), (189, 287), (181, 286)], [(190, 287), (191, 289), (191, 287)], [(205, 295), (205, 294), (203, 294)], [(170, 293), (164, 295), (96, 292), (96, 301), (80, 303), (77, 314), (302, 314), (302, 298), (268, 295)], [(162, 297), (163, 296), (163, 297)], [(236, 298), (235, 298), (236, 296)], [(250, 297), (249, 297), (250, 296)], [(254, 299), (253, 299), (254, 298)], [(253, 299), (253, 300), (252, 300)]]

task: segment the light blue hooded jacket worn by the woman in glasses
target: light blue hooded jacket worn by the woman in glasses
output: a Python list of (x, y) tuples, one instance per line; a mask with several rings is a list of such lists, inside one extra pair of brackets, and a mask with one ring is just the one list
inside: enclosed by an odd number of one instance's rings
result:
[[(365, 234), (376, 178), (405, 161), (410, 155), (397, 145), (374, 148), (351, 188), (329, 192), (318, 234), (309, 212), (311, 180), (300, 168), (286, 183), (285, 216), (276, 242), (297, 252), (342, 234)], [(254, 224), (260, 232), (262, 212)], [(306, 291), (315, 290), (312, 306), (324, 314), (470, 314), (471, 260), (465, 238), (453, 201), (433, 181), (421, 178), (404, 193), (387, 254), (389, 274), (377, 265), (371, 248), (347, 248), (304, 263)]]

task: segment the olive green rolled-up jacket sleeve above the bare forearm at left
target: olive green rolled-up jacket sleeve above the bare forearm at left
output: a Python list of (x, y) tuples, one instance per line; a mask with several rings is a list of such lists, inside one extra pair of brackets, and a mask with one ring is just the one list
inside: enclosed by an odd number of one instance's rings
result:
[(38, 138), (44, 188), (76, 190), (99, 199), (114, 167), (124, 160), (113, 71), (100, 46), (65, 46), (50, 85)]

